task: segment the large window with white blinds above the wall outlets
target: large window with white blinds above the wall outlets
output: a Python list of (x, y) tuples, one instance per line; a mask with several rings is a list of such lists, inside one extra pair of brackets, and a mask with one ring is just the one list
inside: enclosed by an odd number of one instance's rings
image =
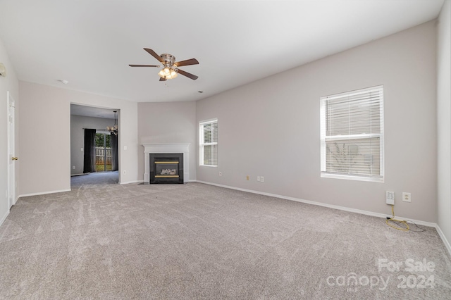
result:
[(321, 97), (321, 177), (383, 182), (383, 86)]

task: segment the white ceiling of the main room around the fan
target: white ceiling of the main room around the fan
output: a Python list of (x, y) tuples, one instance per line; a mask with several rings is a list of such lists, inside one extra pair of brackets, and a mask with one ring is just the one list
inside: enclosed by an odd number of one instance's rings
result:
[[(0, 39), (20, 80), (194, 101), (433, 20), (443, 1), (0, 0)], [(199, 79), (130, 68), (159, 64), (144, 47), (197, 58), (181, 69)]]

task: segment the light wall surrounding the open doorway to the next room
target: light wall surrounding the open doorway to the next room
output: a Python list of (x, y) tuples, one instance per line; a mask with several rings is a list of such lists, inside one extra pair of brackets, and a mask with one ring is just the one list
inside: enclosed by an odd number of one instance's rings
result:
[[(137, 103), (20, 81), (20, 195), (70, 190), (70, 104), (117, 108), (121, 184), (138, 181)], [(126, 148), (126, 150), (125, 150)]]

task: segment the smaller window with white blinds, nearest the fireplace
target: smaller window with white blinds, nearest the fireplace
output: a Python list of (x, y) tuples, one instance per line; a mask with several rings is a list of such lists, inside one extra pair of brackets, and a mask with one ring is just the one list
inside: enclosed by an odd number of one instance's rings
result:
[(199, 123), (199, 164), (218, 166), (218, 119)]

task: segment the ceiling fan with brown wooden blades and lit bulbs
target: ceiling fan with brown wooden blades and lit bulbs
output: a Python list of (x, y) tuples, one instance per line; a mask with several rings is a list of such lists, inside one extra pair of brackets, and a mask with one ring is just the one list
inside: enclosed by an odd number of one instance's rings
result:
[[(198, 65), (199, 61), (196, 58), (187, 59), (186, 61), (175, 61), (175, 56), (171, 54), (161, 54), (158, 55), (152, 49), (144, 48), (147, 53), (154, 56), (162, 65), (163, 68), (160, 70), (158, 75), (160, 75), (160, 81), (166, 81), (168, 79), (173, 79), (177, 77), (178, 74), (191, 78), (192, 80), (197, 80), (196, 75), (187, 73), (184, 70), (180, 70), (178, 67), (183, 65)], [(130, 67), (156, 67), (159, 68), (161, 65), (130, 65)]]

